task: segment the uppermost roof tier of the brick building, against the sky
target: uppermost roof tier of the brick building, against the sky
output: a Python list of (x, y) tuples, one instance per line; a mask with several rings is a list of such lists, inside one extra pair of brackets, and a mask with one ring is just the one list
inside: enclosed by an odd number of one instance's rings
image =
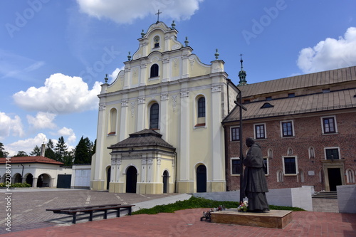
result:
[(251, 95), (262, 95), (298, 88), (345, 83), (352, 80), (356, 80), (356, 66), (247, 84), (239, 86), (239, 89), (242, 91), (244, 98), (246, 98)]

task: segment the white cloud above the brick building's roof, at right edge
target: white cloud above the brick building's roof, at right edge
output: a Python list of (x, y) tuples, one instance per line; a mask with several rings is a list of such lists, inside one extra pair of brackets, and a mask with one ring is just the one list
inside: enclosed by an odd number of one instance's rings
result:
[(303, 73), (356, 65), (356, 28), (348, 28), (345, 36), (339, 39), (326, 38), (313, 48), (303, 48), (297, 64)]

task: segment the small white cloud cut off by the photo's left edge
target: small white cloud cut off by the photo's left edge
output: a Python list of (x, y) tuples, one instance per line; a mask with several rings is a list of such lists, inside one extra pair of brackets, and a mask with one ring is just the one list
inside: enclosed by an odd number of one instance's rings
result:
[(12, 136), (23, 136), (23, 125), (21, 118), (18, 115), (14, 116), (12, 119), (9, 115), (4, 112), (0, 112), (0, 139), (4, 137)]

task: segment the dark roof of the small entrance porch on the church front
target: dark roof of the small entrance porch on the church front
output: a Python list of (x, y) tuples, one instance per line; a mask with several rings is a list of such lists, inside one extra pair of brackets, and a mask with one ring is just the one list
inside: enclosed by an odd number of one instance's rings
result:
[(162, 135), (154, 130), (142, 130), (130, 134), (130, 137), (111, 145), (108, 149), (123, 147), (159, 146), (175, 149), (171, 144), (162, 139)]

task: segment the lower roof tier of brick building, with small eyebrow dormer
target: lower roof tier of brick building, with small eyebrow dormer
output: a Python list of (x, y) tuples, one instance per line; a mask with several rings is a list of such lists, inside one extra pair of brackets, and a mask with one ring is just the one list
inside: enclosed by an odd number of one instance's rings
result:
[[(356, 89), (339, 90), (330, 93), (318, 93), (303, 95), (295, 98), (283, 98), (278, 100), (263, 100), (244, 104), (246, 111), (242, 111), (243, 120), (258, 117), (273, 117), (282, 115), (298, 115), (308, 112), (320, 112), (326, 110), (338, 110), (356, 107)], [(261, 108), (266, 102), (273, 107)], [(224, 122), (239, 120), (239, 107), (236, 106)]]

